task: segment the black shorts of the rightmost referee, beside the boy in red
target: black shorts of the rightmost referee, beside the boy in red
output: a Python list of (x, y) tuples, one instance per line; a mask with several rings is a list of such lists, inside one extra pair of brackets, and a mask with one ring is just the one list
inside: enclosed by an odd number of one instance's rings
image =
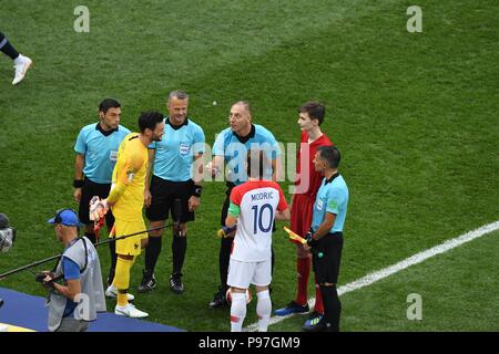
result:
[[(327, 233), (318, 241), (316, 250), (317, 252), (313, 252), (312, 264), (317, 277), (317, 283), (336, 284), (342, 261), (343, 233)], [(318, 257), (319, 252), (323, 253), (322, 258)]]

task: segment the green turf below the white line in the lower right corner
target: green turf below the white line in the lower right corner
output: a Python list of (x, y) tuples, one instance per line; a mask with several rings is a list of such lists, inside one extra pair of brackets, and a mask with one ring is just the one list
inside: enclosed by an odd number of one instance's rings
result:
[[(483, 259), (497, 259), (499, 231), (485, 235), (447, 253), (430, 258), (367, 288), (340, 296), (342, 331), (499, 331), (499, 287), (495, 271)], [(477, 257), (479, 254), (479, 257)], [(421, 298), (421, 319), (408, 320), (414, 300)], [(409, 310), (409, 311), (408, 311)], [(272, 326), (297, 331), (306, 315)]]

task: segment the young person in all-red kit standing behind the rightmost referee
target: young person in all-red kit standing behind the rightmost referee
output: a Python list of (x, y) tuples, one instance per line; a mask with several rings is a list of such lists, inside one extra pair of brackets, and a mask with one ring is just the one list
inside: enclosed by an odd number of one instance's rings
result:
[[(302, 131), (301, 148), (296, 160), (295, 194), (291, 208), (291, 229), (299, 236), (305, 236), (312, 225), (312, 211), (315, 197), (320, 187), (324, 176), (315, 171), (313, 159), (319, 146), (332, 146), (327, 135), (320, 129), (324, 122), (325, 107), (317, 102), (307, 102), (299, 107), (298, 125)], [(308, 278), (310, 274), (312, 256), (304, 247), (296, 242), (298, 291), (296, 300), (289, 302), (285, 308), (276, 310), (274, 313), (279, 316), (292, 313), (308, 312)], [(315, 284), (315, 308), (309, 319), (305, 322), (304, 329), (316, 325), (324, 314), (323, 299), (320, 290)]]

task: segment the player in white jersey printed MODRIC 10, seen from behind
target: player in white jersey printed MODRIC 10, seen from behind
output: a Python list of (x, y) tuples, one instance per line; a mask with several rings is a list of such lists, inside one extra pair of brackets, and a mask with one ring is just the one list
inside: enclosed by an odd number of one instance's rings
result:
[(263, 150), (247, 154), (248, 180), (231, 192), (226, 227), (237, 225), (231, 252), (227, 284), (231, 287), (231, 331), (241, 332), (246, 316), (246, 292), (254, 284), (258, 331), (266, 332), (272, 313), (272, 228), (274, 220), (289, 220), (279, 185), (264, 180), (269, 160)]

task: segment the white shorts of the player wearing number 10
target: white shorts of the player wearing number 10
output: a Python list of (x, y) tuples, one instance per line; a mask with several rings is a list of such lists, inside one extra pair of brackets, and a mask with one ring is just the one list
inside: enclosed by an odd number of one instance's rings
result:
[(266, 287), (272, 281), (272, 260), (261, 262), (242, 262), (231, 258), (227, 284), (248, 289), (249, 284)]

